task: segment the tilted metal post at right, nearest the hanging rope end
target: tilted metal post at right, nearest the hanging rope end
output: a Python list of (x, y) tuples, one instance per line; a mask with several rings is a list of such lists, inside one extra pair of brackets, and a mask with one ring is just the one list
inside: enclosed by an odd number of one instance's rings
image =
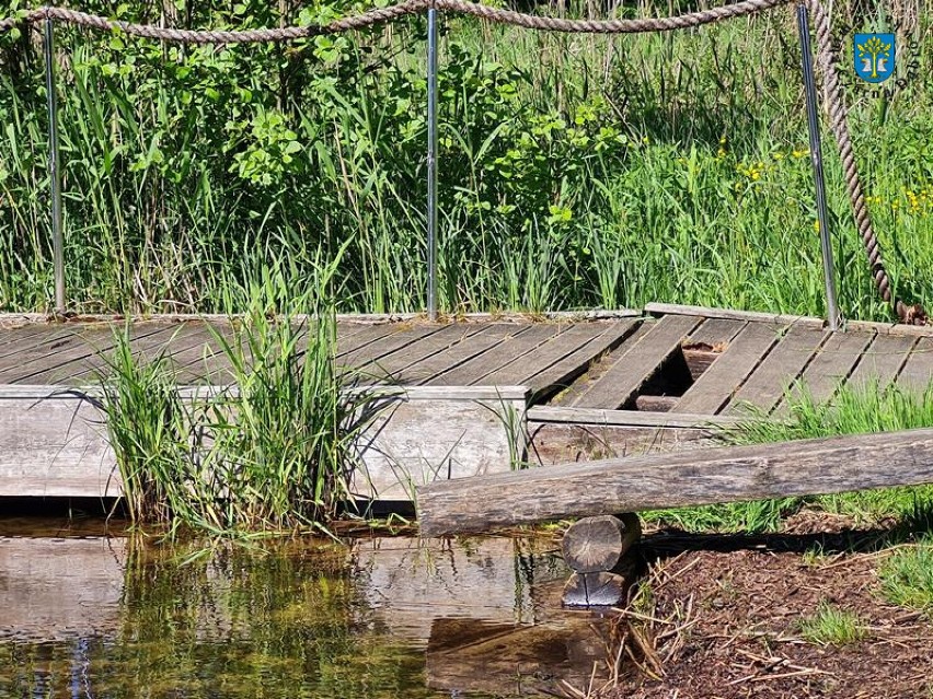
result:
[(822, 174), (822, 153), (820, 152), (814, 60), (810, 53), (810, 27), (805, 4), (797, 5), (797, 26), (800, 31), (800, 53), (803, 54), (804, 86), (807, 100), (807, 126), (810, 132), (810, 161), (813, 162), (814, 180), (816, 183), (817, 221), (819, 221), (819, 240), (822, 247), (822, 271), (826, 278), (827, 321), (830, 330), (838, 330), (840, 315), (839, 305), (836, 301), (836, 269), (832, 264), (832, 241), (829, 235), (829, 217), (826, 211), (826, 184)]

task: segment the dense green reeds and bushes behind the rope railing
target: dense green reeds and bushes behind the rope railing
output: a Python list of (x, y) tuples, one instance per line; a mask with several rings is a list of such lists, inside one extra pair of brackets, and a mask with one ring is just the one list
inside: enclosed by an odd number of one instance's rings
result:
[[(0, 15), (23, 4), (0, 1)], [(238, 28), (367, 7), (80, 5), (123, 20)], [(587, 8), (571, 3), (567, 12)], [(692, 8), (629, 4), (618, 14)], [(855, 153), (897, 293), (930, 301), (930, 16), (914, 0), (871, 22), (859, 8), (832, 5)], [(887, 95), (852, 74), (849, 36), (899, 21), (905, 83)], [(279, 267), (300, 290), (319, 256), (335, 259), (346, 245), (334, 290), (341, 310), (422, 308), (424, 34), (416, 18), (391, 31), (214, 48), (60, 27), (70, 306), (241, 311), (239, 290), (263, 270)], [(444, 308), (655, 300), (822, 313), (788, 10), (619, 37), (446, 18), (441, 50)], [(48, 308), (51, 298), (44, 90), (37, 43), (19, 32), (0, 37), (3, 310)], [(834, 149), (825, 147), (842, 308), (889, 317)]]

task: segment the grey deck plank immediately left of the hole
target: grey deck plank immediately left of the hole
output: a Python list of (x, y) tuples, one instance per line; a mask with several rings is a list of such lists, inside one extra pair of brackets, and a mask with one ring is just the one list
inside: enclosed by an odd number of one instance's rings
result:
[(577, 397), (577, 408), (621, 408), (632, 400), (652, 374), (702, 318), (671, 315), (657, 321), (599, 380)]

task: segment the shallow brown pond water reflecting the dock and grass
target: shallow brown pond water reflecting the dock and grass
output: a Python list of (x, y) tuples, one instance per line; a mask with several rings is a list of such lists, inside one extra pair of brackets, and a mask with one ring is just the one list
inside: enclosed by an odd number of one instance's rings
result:
[(552, 538), (164, 544), (0, 520), (0, 697), (560, 694), (604, 628)]

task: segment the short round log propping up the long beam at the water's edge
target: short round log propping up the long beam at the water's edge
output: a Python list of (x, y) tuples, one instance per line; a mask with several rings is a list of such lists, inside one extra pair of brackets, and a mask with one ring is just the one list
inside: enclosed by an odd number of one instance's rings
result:
[(611, 514), (584, 517), (564, 534), (561, 551), (572, 570), (597, 573), (615, 568), (641, 535), (636, 514), (623, 514), (621, 519)]

